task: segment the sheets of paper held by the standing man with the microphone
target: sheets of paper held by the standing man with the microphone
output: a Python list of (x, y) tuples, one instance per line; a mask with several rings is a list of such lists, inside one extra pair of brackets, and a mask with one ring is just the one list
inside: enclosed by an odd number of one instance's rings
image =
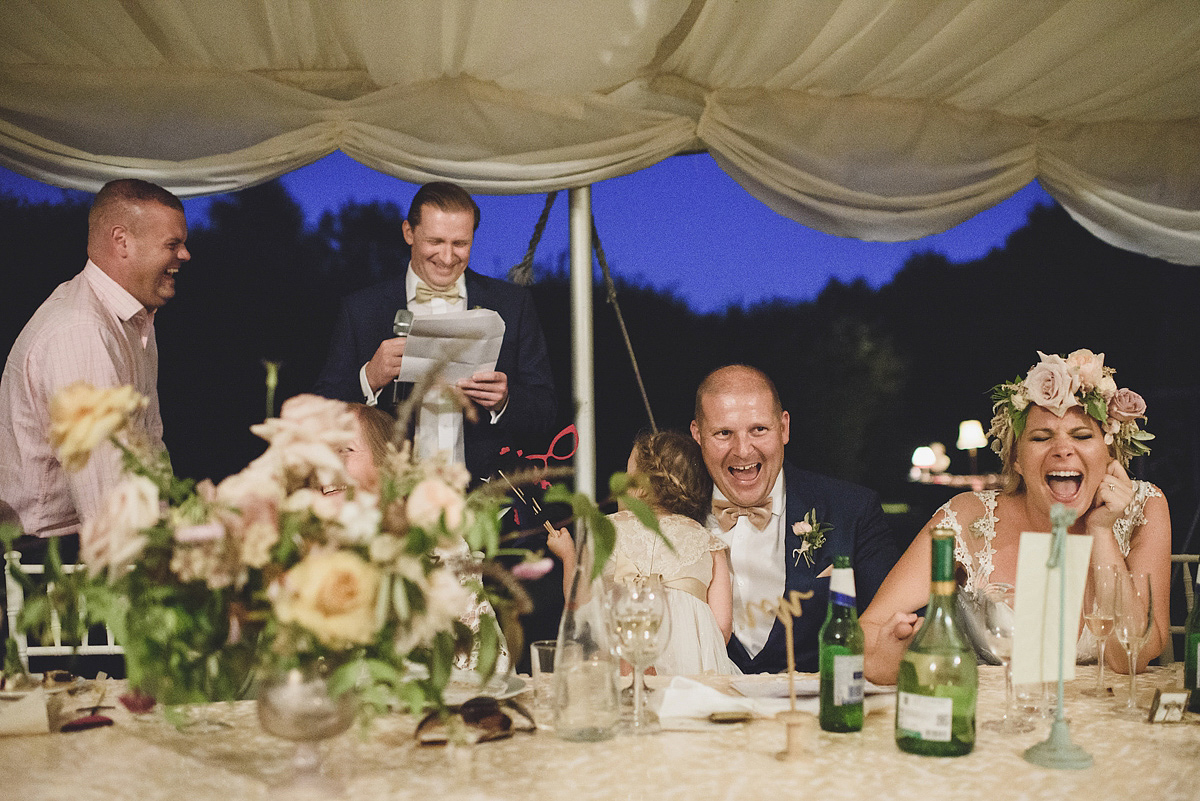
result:
[(496, 369), (504, 320), (490, 308), (427, 314), (413, 320), (398, 380), (418, 383), (442, 366), (446, 384)]

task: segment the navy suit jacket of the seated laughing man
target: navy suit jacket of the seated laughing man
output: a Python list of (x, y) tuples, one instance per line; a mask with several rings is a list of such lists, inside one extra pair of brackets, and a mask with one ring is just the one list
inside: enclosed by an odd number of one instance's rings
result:
[[(787, 559), (786, 591), (812, 592), (811, 598), (800, 602), (800, 616), (792, 621), (796, 669), (816, 673), (820, 656), (817, 634), (829, 606), (829, 576), (817, 577), (833, 566), (835, 555), (848, 555), (854, 568), (856, 604), (862, 614), (895, 565), (900, 552), (875, 492), (799, 470), (785, 462), (784, 493), (787, 514), (784, 537), (784, 555)], [(824, 544), (812, 555), (811, 567), (797, 553), (802, 541), (792, 530), (792, 525), (803, 520), (810, 510), (816, 510), (818, 523), (833, 526), (826, 534)], [(760, 598), (751, 598), (757, 600)], [(762, 613), (755, 609), (754, 614)], [(754, 658), (736, 634), (730, 638), (727, 650), (730, 658), (743, 673), (782, 673), (787, 670), (786, 644), (784, 625), (776, 620), (767, 644)]]

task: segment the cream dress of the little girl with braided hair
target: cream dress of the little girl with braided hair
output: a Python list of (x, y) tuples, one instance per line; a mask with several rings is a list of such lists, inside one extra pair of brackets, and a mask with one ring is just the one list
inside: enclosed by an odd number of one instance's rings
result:
[(605, 566), (611, 580), (632, 576), (662, 577), (671, 614), (671, 640), (654, 661), (660, 675), (696, 675), (702, 673), (738, 675), (742, 671), (725, 651), (725, 638), (708, 606), (708, 585), (713, 580), (713, 552), (725, 543), (708, 529), (682, 514), (659, 518), (662, 535), (674, 546), (674, 553), (647, 529), (632, 512), (610, 514), (617, 528), (613, 558)]

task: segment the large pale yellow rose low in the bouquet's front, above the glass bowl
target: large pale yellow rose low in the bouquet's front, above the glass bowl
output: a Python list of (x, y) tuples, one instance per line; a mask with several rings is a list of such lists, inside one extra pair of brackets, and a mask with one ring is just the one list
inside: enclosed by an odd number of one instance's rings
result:
[(358, 554), (314, 550), (280, 580), (280, 621), (302, 626), (325, 645), (365, 645), (378, 632), (379, 571)]

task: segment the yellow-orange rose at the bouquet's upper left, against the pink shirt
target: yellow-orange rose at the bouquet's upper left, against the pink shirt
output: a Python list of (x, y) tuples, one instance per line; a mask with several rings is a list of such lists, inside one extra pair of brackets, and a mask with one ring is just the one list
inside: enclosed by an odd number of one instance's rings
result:
[(50, 399), (50, 445), (67, 470), (88, 464), (97, 445), (125, 428), (132, 415), (148, 403), (132, 386), (97, 390), (76, 381)]

